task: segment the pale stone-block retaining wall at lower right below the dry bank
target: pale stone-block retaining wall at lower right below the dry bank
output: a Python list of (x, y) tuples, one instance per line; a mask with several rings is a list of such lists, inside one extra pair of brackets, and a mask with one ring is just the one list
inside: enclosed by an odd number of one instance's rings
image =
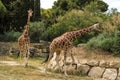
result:
[[(104, 80), (120, 80), (120, 61), (107, 61), (107, 60), (87, 60), (77, 59), (75, 60), (77, 67), (70, 65), (72, 60), (67, 58), (67, 71), (68, 73), (80, 72), (82, 75), (86, 75), (94, 78), (102, 78)], [(51, 64), (51, 65), (50, 65)], [(50, 62), (51, 69), (55, 66), (55, 61)], [(63, 64), (63, 63), (62, 63)], [(61, 64), (61, 65), (62, 65)]]

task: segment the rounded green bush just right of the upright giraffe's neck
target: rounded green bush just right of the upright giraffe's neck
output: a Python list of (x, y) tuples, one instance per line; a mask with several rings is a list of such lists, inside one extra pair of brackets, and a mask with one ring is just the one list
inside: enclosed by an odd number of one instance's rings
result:
[(43, 22), (33, 22), (30, 24), (30, 39), (31, 42), (39, 42), (42, 38), (42, 33), (45, 30), (45, 25)]

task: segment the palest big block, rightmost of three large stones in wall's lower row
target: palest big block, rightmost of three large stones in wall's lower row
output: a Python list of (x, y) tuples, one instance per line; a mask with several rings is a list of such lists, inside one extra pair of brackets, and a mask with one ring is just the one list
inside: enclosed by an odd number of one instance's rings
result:
[(103, 74), (103, 78), (108, 80), (116, 80), (117, 69), (107, 68)]

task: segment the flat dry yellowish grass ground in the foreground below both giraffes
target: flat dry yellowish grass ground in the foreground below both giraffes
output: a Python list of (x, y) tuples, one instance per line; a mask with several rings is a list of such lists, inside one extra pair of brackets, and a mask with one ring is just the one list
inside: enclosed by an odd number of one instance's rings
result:
[[(19, 61), (19, 59), (0, 56), (0, 61)], [(38, 67), (41, 65), (41, 58), (32, 58), (29, 60), (29, 67), (24, 68), (23, 66), (10, 66), (0, 64), (0, 80), (93, 80), (89, 77), (81, 77), (75, 75), (69, 75), (68, 77), (60, 73), (50, 72), (42, 73)]]

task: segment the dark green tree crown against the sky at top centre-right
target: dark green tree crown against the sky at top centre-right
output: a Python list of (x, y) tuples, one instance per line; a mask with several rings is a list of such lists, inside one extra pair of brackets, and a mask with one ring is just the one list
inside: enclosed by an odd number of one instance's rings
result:
[(100, 9), (102, 12), (105, 12), (108, 9), (108, 5), (101, 0), (58, 0), (54, 3), (53, 12), (58, 16), (64, 15), (67, 11), (72, 9), (83, 10), (83, 8), (91, 2), (97, 2), (92, 8), (97, 6), (95, 8)]

